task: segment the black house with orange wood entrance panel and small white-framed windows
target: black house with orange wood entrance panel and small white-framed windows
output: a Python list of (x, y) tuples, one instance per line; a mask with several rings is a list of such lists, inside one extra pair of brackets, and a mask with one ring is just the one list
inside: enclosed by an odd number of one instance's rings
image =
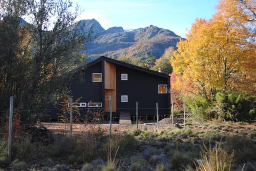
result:
[(170, 77), (153, 70), (101, 56), (87, 64), (83, 82), (71, 85), (73, 99), (89, 108), (101, 108), (108, 115), (111, 96), (113, 115), (130, 112), (136, 115), (139, 102), (140, 116), (170, 115)]

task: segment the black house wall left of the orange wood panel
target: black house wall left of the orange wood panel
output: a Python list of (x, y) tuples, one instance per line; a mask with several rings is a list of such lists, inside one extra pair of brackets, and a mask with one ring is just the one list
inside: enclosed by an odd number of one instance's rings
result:
[[(82, 97), (80, 102), (102, 102), (102, 82), (92, 82), (93, 73), (102, 73), (101, 62), (94, 64), (93, 66), (87, 68), (84, 71), (84, 80), (82, 82), (76, 82), (71, 85), (71, 90), (73, 92), (73, 101)], [(102, 73), (103, 76), (103, 73)], [(103, 104), (102, 104), (103, 105)]]

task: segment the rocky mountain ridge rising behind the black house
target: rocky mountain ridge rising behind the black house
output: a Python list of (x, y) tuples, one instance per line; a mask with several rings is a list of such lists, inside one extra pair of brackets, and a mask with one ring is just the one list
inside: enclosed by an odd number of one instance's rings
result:
[(167, 48), (172, 46), (175, 50), (181, 38), (171, 30), (152, 25), (134, 30), (124, 30), (122, 27), (105, 30), (95, 19), (78, 21), (73, 29), (90, 35), (89, 41), (85, 42), (85, 52), (89, 59), (101, 55), (159, 58)]

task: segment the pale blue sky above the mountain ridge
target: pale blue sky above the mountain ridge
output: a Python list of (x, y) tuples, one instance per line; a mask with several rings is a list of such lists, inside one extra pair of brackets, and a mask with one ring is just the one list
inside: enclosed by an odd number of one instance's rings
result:
[(219, 0), (73, 0), (83, 10), (78, 17), (96, 19), (108, 29), (154, 25), (185, 37), (196, 18), (210, 19)]

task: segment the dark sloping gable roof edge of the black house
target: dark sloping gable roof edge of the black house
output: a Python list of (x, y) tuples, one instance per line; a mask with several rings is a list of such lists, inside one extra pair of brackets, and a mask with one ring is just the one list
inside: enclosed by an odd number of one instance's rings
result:
[[(94, 61), (91, 61), (89, 63), (86, 64), (86, 67), (90, 67), (90, 66), (93, 66), (94, 64), (98, 63), (98, 62), (102, 62), (102, 61), (107, 61), (107, 62), (110, 62), (110, 63), (114, 63), (118, 66), (122, 66), (122, 67), (127, 67), (127, 68), (131, 68), (131, 69), (134, 69), (134, 70), (138, 70), (138, 71), (142, 71), (142, 72), (146, 72), (148, 74), (152, 74), (152, 75), (156, 75), (156, 76), (160, 76), (160, 77), (165, 77), (165, 78), (169, 78), (168, 75), (164, 74), (164, 73), (161, 73), (161, 72), (157, 72), (157, 71), (153, 71), (153, 70), (150, 70), (150, 69), (146, 69), (146, 68), (143, 68), (143, 67), (139, 67), (139, 66), (135, 66), (133, 64), (130, 64), (130, 63), (126, 63), (126, 62), (123, 62), (123, 61), (118, 61), (116, 59), (111, 59), (111, 58), (108, 58), (106, 56), (100, 56), (100, 58), (97, 58), (95, 59)], [(83, 68), (83, 69), (86, 69)], [(82, 68), (81, 68), (82, 69)], [(82, 70), (83, 70), (82, 69)]]

